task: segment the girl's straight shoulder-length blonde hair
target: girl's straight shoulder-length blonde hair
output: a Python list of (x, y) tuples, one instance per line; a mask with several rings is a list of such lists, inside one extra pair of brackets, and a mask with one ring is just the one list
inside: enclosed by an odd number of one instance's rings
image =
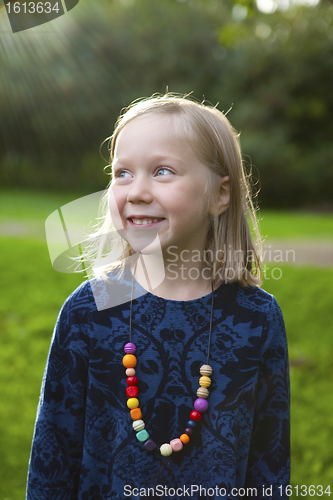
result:
[[(120, 131), (135, 118), (153, 113), (166, 113), (176, 118), (177, 131), (184, 136), (197, 158), (212, 173), (208, 176), (205, 189), (207, 207), (214, 203), (217, 194), (216, 177), (229, 176), (228, 209), (221, 215), (208, 214), (209, 228), (205, 256), (209, 256), (212, 279), (217, 282), (222, 278), (226, 283), (238, 281), (243, 286), (260, 285), (261, 238), (252, 200), (251, 174), (246, 174), (244, 169), (239, 135), (226, 116), (216, 107), (198, 103), (188, 95), (171, 93), (155, 94), (150, 98), (134, 101), (119, 116), (112, 136), (106, 139), (109, 141), (111, 168)], [(112, 221), (107, 208), (107, 192), (101, 207), (103, 224), (97, 232), (97, 245), (88, 248), (90, 261), (94, 260), (93, 254), (97, 257), (95, 260), (100, 260), (110, 250), (107, 235), (112, 230)], [(248, 219), (252, 223), (256, 246), (251, 238)], [(122, 240), (120, 261), (123, 262), (132, 254), (130, 245)], [(222, 259), (219, 258), (221, 255)], [(121, 262), (118, 261), (120, 267)], [(108, 268), (105, 268), (105, 272), (107, 270)]]

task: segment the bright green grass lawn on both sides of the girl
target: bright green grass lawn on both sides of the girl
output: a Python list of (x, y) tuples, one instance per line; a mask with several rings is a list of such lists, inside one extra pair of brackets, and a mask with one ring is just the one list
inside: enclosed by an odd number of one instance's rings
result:
[[(16, 205), (17, 220), (40, 222), (74, 197), (2, 195), (2, 215)], [(15, 195), (16, 196), (16, 195)], [(52, 199), (51, 199), (52, 198)], [(65, 200), (65, 201), (64, 201)], [(33, 203), (35, 205), (33, 206)], [(308, 225), (302, 214), (268, 213), (272, 234), (296, 227), (328, 236), (332, 222), (318, 216)], [(317, 217), (317, 216), (316, 216)], [(329, 219), (329, 218), (328, 218)], [(275, 221), (275, 222), (274, 222)], [(301, 230), (301, 228), (303, 228)], [(289, 229), (291, 231), (291, 229)], [(291, 235), (291, 233), (290, 233)], [(79, 274), (55, 272), (45, 242), (27, 238), (0, 239), (0, 500), (23, 500), (40, 384), (59, 309), (81, 283)], [(327, 486), (333, 477), (333, 269), (281, 266), (282, 278), (269, 272), (263, 288), (273, 293), (284, 313), (291, 361), (292, 484)], [(333, 491), (333, 485), (332, 485)], [(324, 495), (326, 498), (328, 495)], [(303, 496), (310, 498), (310, 496)], [(275, 500), (275, 499), (274, 499)]]

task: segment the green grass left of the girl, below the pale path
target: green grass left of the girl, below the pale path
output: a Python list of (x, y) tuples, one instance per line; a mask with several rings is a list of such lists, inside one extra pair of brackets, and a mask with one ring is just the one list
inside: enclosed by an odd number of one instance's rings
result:
[(41, 242), (1, 239), (0, 252), (0, 499), (22, 500), (52, 329), (82, 276), (55, 272)]

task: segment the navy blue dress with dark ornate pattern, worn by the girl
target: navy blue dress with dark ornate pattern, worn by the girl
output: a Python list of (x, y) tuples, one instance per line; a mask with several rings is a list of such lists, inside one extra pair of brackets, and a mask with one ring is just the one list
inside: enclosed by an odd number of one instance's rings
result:
[[(145, 293), (133, 301), (138, 398), (158, 445), (180, 436), (193, 409), (211, 299)], [(64, 303), (43, 379), (27, 500), (287, 499), (288, 352), (275, 298), (238, 284), (214, 292), (209, 409), (170, 457), (144, 450), (132, 428), (122, 365), (129, 309), (127, 302), (98, 310), (88, 281)]]

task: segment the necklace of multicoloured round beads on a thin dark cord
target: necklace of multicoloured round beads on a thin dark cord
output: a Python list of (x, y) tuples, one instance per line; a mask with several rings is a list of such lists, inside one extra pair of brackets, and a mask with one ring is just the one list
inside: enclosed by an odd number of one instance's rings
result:
[[(138, 378), (135, 376), (135, 366), (137, 364), (137, 359), (134, 353), (136, 352), (136, 346), (132, 343), (132, 307), (133, 307), (133, 289), (134, 289), (134, 276), (135, 270), (133, 273), (132, 279), (132, 292), (131, 292), (131, 302), (130, 302), (130, 341), (127, 342), (124, 346), (125, 355), (123, 357), (123, 365), (126, 368), (125, 374), (127, 376), (127, 388), (126, 388), (126, 396), (127, 396), (127, 406), (130, 409), (131, 418), (133, 420), (133, 429), (136, 432), (136, 437), (138, 441), (143, 443), (143, 448), (147, 451), (153, 451), (156, 449), (156, 443), (150, 438), (147, 430), (145, 429), (146, 424), (142, 419), (141, 409), (139, 407), (139, 390), (138, 390)], [(211, 301), (211, 312), (210, 312), (210, 326), (209, 326), (209, 340), (208, 340), (208, 348), (207, 348), (207, 362), (206, 364), (200, 367), (201, 377), (199, 378), (199, 388), (197, 390), (198, 398), (194, 401), (194, 410), (190, 413), (190, 419), (187, 422), (186, 428), (183, 434), (180, 435), (179, 438), (172, 439), (170, 443), (164, 443), (160, 446), (159, 450), (161, 455), (164, 457), (168, 457), (173, 452), (178, 452), (183, 449), (184, 444), (187, 444), (190, 441), (190, 436), (192, 435), (197, 422), (199, 422), (202, 418), (202, 413), (208, 410), (208, 401), (207, 398), (209, 396), (208, 387), (211, 385), (210, 375), (213, 370), (209, 363), (209, 354), (210, 354), (210, 344), (212, 337), (212, 324), (213, 324), (213, 310), (214, 310), (214, 286), (212, 281), (212, 301)]]

